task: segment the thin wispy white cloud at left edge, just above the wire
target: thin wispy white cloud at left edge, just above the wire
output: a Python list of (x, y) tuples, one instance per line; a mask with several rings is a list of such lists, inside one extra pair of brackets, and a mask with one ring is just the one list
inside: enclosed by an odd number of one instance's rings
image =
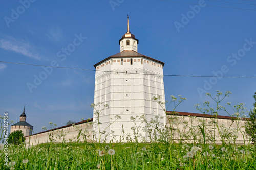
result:
[(13, 37), (6, 37), (0, 40), (0, 47), (4, 50), (14, 51), (16, 53), (22, 54), (24, 56), (40, 60), (41, 57), (36, 52), (35, 48), (28, 42), (23, 42), (22, 40), (17, 40)]

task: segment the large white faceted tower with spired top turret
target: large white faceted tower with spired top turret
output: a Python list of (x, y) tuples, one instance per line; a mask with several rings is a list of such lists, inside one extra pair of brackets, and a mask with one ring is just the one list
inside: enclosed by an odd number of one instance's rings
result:
[[(102, 103), (96, 106), (98, 111), (103, 109), (104, 104), (109, 105), (109, 108), (100, 112), (99, 117), (94, 110), (93, 120), (97, 138), (94, 140), (99, 141), (99, 132), (103, 132), (100, 139), (107, 142), (112, 139), (113, 142), (117, 142), (120, 139), (125, 141), (134, 138), (131, 127), (136, 127), (136, 125), (141, 127), (139, 133), (147, 138), (146, 133), (142, 131), (145, 123), (141, 123), (141, 120), (137, 118), (135, 125), (130, 120), (131, 116), (145, 115), (147, 120), (159, 116), (163, 117), (161, 122), (166, 124), (165, 112), (151, 100), (154, 96), (161, 96), (161, 100), (165, 101), (164, 63), (139, 54), (138, 43), (139, 40), (130, 33), (128, 18), (127, 32), (119, 40), (120, 53), (94, 65), (96, 68), (94, 103)], [(115, 116), (120, 116), (121, 119), (114, 122)], [(122, 133), (122, 127), (125, 134)], [(108, 136), (105, 138), (105, 135)], [(141, 139), (140, 137), (139, 140)]]

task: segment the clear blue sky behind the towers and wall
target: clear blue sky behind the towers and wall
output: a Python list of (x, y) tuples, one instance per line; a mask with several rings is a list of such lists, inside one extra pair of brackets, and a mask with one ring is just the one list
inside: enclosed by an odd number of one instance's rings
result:
[[(129, 14), (138, 52), (164, 62), (166, 75), (256, 76), (256, 2), (178, 2), (183, 3), (1, 1), (0, 61), (94, 69), (120, 52)], [(0, 63), (0, 113), (9, 112), (16, 123), (26, 105), (35, 133), (50, 121), (63, 126), (92, 118), (94, 76), (94, 71)], [(34, 82), (35, 77), (44, 80)], [(164, 77), (166, 100), (187, 98), (177, 108), (183, 112), (198, 113), (193, 106), (209, 100), (203, 93), (216, 90), (232, 92), (222, 106), (243, 102), (250, 109), (255, 87), (256, 78)]]

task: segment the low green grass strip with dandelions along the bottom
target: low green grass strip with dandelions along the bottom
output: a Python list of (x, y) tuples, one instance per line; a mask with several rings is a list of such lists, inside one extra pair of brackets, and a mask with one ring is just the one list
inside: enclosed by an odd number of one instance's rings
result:
[[(107, 147), (108, 146), (108, 147)], [(191, 158), (183, 158), (193, 145), (170, 143), (58, 143), (40, 144), (26, 148), (24, 145), (9, 145), (8, 166), (4, 165), (4, 150), (1, 150), (0, 167), (10, 169), (256, 169), (256, 153), (253, 145), (208, 145), (197, 146), (202, 151)], [(145, 147), (145, 148), (144, 148)], [(108, 150), (115, 154), (109, 155)], [(98, 150), (105, 155), (99, 156)], [(204, 156), (204, 152), (208, 156)], [(212, 155), (215, 154), (215, 155)], [(22, 161), (28, 159), (28, 163)], [(183, 166), (181, 166), (183, 165)]]

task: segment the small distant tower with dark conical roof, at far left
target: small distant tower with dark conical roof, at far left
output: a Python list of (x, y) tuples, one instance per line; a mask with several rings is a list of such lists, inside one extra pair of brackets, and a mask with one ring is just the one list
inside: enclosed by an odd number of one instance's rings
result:
[(22, 131), (24, 136), (32, 135), (33, 126), (26, 122), (27, 115), (25, 114), (25, 106), (23, 113), (19, 117), (19, 122), (11, 126), (11, 132), (13, 131)]

